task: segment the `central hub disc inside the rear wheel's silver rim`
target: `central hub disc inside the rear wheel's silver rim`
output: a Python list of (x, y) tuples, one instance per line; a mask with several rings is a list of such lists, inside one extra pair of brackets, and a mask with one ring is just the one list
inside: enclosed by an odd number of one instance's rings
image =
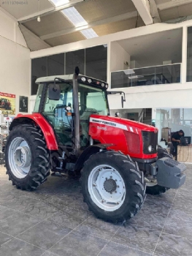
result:
[(18, 146), (14, 152), (15, 164), (18, 167), (28, 167), (31, 164), (31, 153), (28, 147)]

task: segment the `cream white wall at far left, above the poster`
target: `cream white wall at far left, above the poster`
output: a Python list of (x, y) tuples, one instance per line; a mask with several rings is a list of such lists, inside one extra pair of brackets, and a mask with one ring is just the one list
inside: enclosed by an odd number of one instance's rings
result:
[(31, 88), (30, 50), (26, 46), (18, 23), (0, 10), (0, 91), (16, 94), (16, 114), (19, 96), (29, 97)]

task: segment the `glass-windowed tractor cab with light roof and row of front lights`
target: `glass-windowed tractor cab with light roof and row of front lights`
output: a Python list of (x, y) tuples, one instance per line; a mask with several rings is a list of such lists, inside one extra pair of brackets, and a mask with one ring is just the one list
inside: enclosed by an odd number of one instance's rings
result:
[[(90, 145), (88, 123), (91, 114), (110, 114), (108, 84), (84, 75), (38, 78), (34, 113), (51, 124), (60, 146), (85, 148)], [(75, 136), (76, 134), (76, 136)], [(74, 140), (75, 138), (75, 140)]]

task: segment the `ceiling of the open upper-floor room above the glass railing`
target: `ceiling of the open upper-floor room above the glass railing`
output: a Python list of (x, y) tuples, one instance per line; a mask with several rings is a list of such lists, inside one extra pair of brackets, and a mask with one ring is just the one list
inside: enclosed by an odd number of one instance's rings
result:
[(118, 43), (131, 56), (131, 60), (137, 61), (139, 67), (161, 65), (163, 61), (180, 63), (182, 62), (182, 34), (182, 29), (173, 29), (123, 39)]

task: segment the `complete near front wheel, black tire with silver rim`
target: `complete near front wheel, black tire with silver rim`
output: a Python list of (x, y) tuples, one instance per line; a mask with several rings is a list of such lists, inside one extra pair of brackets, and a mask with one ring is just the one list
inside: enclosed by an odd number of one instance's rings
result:
[(93, 154), (82, 169), (82, 195), (90, 211), (109, 222), (134, 217), (145, 201), (145, 182), (129, 157), (115, 151)]

